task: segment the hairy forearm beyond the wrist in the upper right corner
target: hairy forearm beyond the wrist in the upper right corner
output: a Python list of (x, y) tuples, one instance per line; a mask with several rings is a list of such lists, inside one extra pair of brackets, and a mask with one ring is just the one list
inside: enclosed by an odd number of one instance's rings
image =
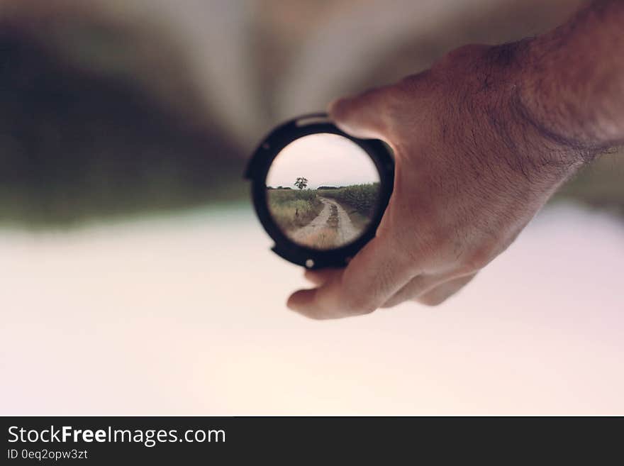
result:
[(594, 152), (624, 143), (624, 0), (594, 1), (523, 49), (520, 99), (540, 132)]

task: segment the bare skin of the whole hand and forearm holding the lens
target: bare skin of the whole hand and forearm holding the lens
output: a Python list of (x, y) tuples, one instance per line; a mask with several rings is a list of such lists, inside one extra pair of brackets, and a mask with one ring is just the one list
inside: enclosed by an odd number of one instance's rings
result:
[(394, 150), (394, 193), (371, 240), (290, 309), (311, 318), (435, 306), (501, 254), (557, 189), (624, 143), (624, 1), (506, 45), (468, 45), (430, 70), (339, 99), (344, 131)]

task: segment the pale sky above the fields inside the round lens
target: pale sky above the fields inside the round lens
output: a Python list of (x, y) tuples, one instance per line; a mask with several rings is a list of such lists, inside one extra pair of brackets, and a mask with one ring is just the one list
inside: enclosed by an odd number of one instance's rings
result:
[(308, 188), (379, 182), (377, 167), (359, 145), (340, 135), (319, 133), (299, 138), (275, 157), (267, 186), (294, 187), (297, 177)]

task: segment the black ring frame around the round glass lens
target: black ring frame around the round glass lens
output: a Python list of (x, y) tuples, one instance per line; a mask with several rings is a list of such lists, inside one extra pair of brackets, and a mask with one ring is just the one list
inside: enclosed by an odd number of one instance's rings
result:
[[(336, 134), (352, 140), (371, 157), (379, 172), (379, 201), (367, 228), (351, 243), (331, 250), (307, 248), (294, 243), (279, 229), (267, 203), (267, 174), (275, 157), (294, 140), (317, 133)], [(392, 194), (394, 158), (391, 150), (381, 140), (354, 138), (335, 126), (326, 113), (313, 113), (286, 121), (269, 133), (253, 153), (245, 171), (245, 178), (251, 181), (252, 200), (258, 219), (275, 242), (272, 248), (274, 253), (308, 269), (344, 267), (351, 257), (374, 238)]]

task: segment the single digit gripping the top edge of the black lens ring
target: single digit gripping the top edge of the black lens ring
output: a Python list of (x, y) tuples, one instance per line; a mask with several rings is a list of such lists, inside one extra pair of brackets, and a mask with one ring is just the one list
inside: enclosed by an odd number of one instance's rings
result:
[(378, 87), (337, 99), (327, 113), (338, 128), (356, 138), (386, 139), (389, 93), (389, 87)]

